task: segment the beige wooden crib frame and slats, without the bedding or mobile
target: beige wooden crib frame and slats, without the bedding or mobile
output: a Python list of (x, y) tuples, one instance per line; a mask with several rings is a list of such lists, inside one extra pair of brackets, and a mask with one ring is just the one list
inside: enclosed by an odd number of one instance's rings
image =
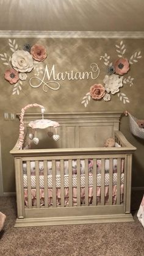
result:
[[(18, 114), (20, 117), (20, 114)], [(15, 227), (35, 225), (60, 225), (60, 224), (86, 224), (96, 222), (124, 222), (133, 221), (131, 215), (131, 172), (132, 153), (136, 148), (132, 146), (119, 131), (121, 112), (91, 112), (75, 114), (45, 114), (46, 119), (56, 120), (60, 123), (58, 134), (60, 141), (56, 148), (18, 150), (17, 146), (10, 151), (15, 159), (15, 180), (16, 180), (16, 202), (17, 219)], [(24, 116), (26, 125), (35, 119), (41, 119), (40, 114), (27, 113)], [(27, 128), (28, 129), (28, 128)], [(99, 138), (101, 134), (101, 138)], [(93, 139), (90, 139), (90, 137)], [(114, 136), (121, 147), (102, 147), (101, 141), (107, 137)], [(85, 147), (84, 137), (88, 137)], [(94, 147), (96, 143), (99, 147)], [(53, 143), (53, 142), (52, 142)], [(17, 144), (17, 143), (16, 143)], [(92, 146), (91, 146), (92, 145)], [(103, 144), (102, 144), (103, 145)], [(88, 204), (88, 159), (101, 158), (101, 203), (96, 203), (96, 168), (93, 172), (93, 203)], [(104, 159), (109, 158), (109, 203), (104, 202)], [(121, 170), (117, 170), (117, 203), (112, 204), (112, 159), (117, 158), (120, 163), (124, 159), (124, 194), (123, 203), (120, 200), (120, 177)], [(73, 206), (72, 174), (69, 172), (69, 205), (64, 205), (64, 185), (61, 178), (61, 205), (56, 203), (56, 160), (60, 160), (60, 175), (63, 177), (63, 161), (77, 159), (77, 206)], [(80, 187), (80, 159), (85, 159), (85, 205), (81, 205)], [(48, 202), (40, 206), (40, 185), (38, 174), (38, 161), (44, 161), (44, 182), (45, 198), (48, 196), (46, 161), (52, 161), (52, 193), (53, 205)], [(27, 162), (27, 190), (28, 207), (24, 205), (23, 186), (23, 161)], [(30, 161), (35, 161), (35, 177), (37, 189), (37, 206), (32, 206), (31, 200), (31, 170)], [(71, 167), (70, 167), (71, 168)], [(95, 177), (94, 177), (95, 176)]]

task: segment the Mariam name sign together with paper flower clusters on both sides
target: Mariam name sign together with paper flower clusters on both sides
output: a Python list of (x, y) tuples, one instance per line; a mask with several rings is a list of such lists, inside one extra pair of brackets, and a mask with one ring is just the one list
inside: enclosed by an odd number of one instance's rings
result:
[[(12, 86), (12, 95), (19, 95), (23, 89), (24, 82), (29, 81), (29, 85), (33, 88), (42, 87), (43, 92), (48, 92), (48, 89), (59, 90), (60, 81), (64, 80), (79, 80), (90, 81), (89, 91), (82, 98), (81, 104), (86, 108), (90, 100), (104, 100), (106, 102), (112, 100), (112, 96), (117, 93), (118, 98), (124, 104), (129, 103), (128, 96), (124, 93), (124, 85), (133, 86), (134, 78), (131, 76), (131, 65), (136, 64), (142, 57), (140, 51), (135, 51), (131, 56), (126, 56), (126, 46), (123, 40), (119, 45), (115, 45), (117, 56), (115, 62), (110, 60), (107, 53), (102, 53), (99, 60), (103, 62), (101, 68), (98, 67), (95, 60), (92, 60), (90, 65), (91, 71), (63, 71), (56, 72), (56, 63), (52, 68), (48, 68), (48, 53), (46, 47), (35, 43), (30, 46), (26, 44), (18, 47), (15, 39), (8, 40), (11, 56), (7, 53), (1, 53), (0, 58), (7, 69), (4, 73), (4, 78)], [(112, 56), (113, 57), (113, 56)], [(43, 64), (41, 65), (41, 63)], [(107, 73), (102, 78), (101, 70), (107, 67)], [(79, 67), (77, 67), (78, 69)], [(31, 73), (32, 71), (32, 73)], [(46, 80), (47, 79), (47, 80)], [(103, 81), (103, 84), (99, 81)], [(123, 89), (123, 92), (121, 90)]]

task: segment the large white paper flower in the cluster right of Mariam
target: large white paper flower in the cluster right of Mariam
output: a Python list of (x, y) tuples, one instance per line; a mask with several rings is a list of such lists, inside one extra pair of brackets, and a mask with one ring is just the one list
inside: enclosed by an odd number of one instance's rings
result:
[(119, 92), (119, 88), (123, 86), (123, 76), (119, 77), (118, 75), (110, 75), (110, 76), (105, 76), (104, 78), (104, 84), (106, 91), (109, 93), (111, 92), (112, 94), (115, 94)]

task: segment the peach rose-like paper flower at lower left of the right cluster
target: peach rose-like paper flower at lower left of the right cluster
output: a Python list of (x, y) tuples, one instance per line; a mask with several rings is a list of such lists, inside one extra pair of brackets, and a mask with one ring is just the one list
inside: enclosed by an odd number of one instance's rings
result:
[(105, 95), (105, 89), (102, 84), (94, 84), (90, 87), (90, 96), (94, 100), (100, 100)]

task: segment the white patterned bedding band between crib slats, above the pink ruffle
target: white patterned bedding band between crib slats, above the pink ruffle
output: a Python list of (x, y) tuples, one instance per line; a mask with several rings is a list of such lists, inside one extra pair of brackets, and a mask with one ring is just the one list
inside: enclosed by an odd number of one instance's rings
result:
[[(60, 188), (60, 175), (56, 175), (56, 188)], [(27, 188), (27, 175), (23, 175), (24, 188)], [(39, 176), (40, 188), (44, 188), (44, 176)], [(124, 174), (121, 174), (121, 184), (124, 182)], [(117, 173), (113, 174), (113, 185), (117, 185)], [(104, 185), (109, 186), (109, 174), (105, 174)], [(68, 188), (68, 175), (64, 175), (64, 186)], [(101, 174), (97, 174), (97, 186), (101, 186)], [(73, 175), (73, 188), (77, 187), (77, 175)], [(85, 187), (85, 175), (81, 175), (81, 188)], [(88, 175), (88, 187), (93, 187), (93, 175)], [(31, 175), (31, 188), (36, 188), (35, 175)], [(48, 175), (48, 188), (52, 188), (52, 175)]]

